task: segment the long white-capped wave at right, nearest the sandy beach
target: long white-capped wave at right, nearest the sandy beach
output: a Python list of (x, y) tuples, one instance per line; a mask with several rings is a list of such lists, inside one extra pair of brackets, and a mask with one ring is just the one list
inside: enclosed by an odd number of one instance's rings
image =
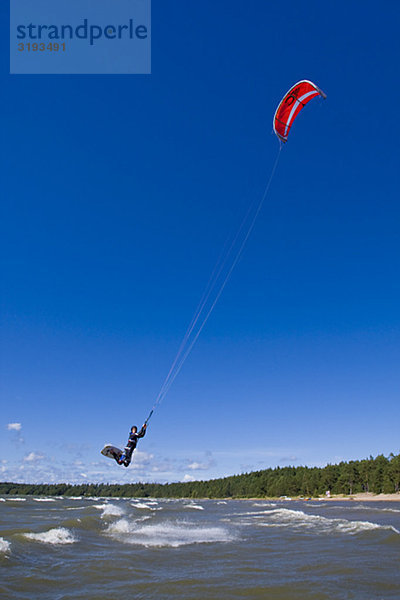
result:
[(265, 516), (270, 523), (258, 523), (263, 527), (292, 527), (294, 529), (305, 529), (316, 533), (357, 533), (371, 530), (386, 530), (400, 534), (392, 525), (379, 525), (370, 521), (350, 521), (348, 519), (328, 519), (319, 515), (310, 515), (302, 510), (290, 510), (288, 508), (277, 508), (266, 511)]

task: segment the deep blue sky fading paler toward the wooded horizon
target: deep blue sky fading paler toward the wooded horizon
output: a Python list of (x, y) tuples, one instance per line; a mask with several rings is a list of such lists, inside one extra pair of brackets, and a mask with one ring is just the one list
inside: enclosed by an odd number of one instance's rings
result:
[[(149, 76), (10, 76), (6, 37), (1, 478), (207, 479), (399, 452), (397, 3), (154, 3)], [(293, 126), (122, 470), (99, 451), (146, 418), (303, 78), (328, 98)]]

